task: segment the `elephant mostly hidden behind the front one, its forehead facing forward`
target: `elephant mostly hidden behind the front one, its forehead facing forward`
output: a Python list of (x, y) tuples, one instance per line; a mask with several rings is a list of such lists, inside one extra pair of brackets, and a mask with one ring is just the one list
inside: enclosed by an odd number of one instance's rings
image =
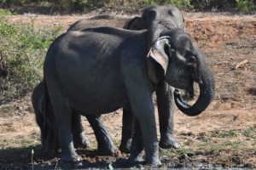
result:
[[(109, 20), (120, 20), (120, 18), (111, 15), (100, 15), (96, 16), (90, 20), (99, 20), (99, 19), (109, 19)], [(127, 21), (127, 19), (123, 19)], [(91, 26), (92, 25), (92, 26)], [(90, 23), (88, 25), (88, 20), (79, 20), (68, 28), (67, 31), (80, 31), (88, 27), (93, 26), (103, 26), (103, 25), (115, 25), (113, 22), (108, 23)], [(127, 30), (148, 30), (148, 39), (151, 41), (148, 44), (148, 47), (151, 44), (154, 44), (154, 41), (159, 37), (160, 31), (170, 30), (174, 28), (180, 28), (184, 30), (184, 19), (181, 11), (171, 4), (166, 5), (150, 5), (143, 9), (143, 14), (141, 17), (135, 17), (124, 26)], [(160, 120), (160, 147), (161, 148), (179, 148), (180, 144), (173, 136), (173, 102), (172, 102), (172, 91), (173, 88), (168, 86), (164, 81), (158, 83), (156, 87), (156, 97), (157, 97), (157, 106), (159, 111), (159, 120)], [(123, 109), (123, 127), (122, 127), (122, 139), (119, 146), (121, 152), (129, 153), (131, 147), (131, 137), (134, 117), (129, 110)]]

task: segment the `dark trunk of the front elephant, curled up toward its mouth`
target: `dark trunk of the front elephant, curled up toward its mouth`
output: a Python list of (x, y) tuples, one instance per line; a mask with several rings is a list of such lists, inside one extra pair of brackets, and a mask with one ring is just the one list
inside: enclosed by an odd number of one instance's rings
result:
[(181, 94), (176, 89), (174, 91), (174, 99), (177, 108), (187, 116), (198, 116), (202, 111), (207, 109), (215, 94), (215, 85), (212, 72), (209, 69), (201, 72), (199, 83), (200, 95), (194, 105), (188, 105), (182, 98)]

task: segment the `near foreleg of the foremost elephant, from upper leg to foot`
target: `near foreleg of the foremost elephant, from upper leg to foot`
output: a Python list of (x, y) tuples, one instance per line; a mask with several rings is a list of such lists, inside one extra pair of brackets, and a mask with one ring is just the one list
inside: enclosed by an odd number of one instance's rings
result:
[[(146, 80), (143, 80), (143, 78), (141, 80), (136, 79), (136, 83), (132, 81), (127, 81), (126, 83), (129, 102), (131, 105), (131, 111), (139, 124), (143, 136), (146, 163), (160, 165), (161, 162), (159, 159), (159, 144), (157, 141), (156, 124), (154, 116), (154, 102), (152, 99), (154, 87), (152, 86), (151, 82), (149, 84), (148, 82), (146, 82)], [(137, 147), (134, 146), (134, 144), (137, 144), (137, 141), (131, 143), (131, 148), (135, 147), (141, 149), (140, 146)], [(132, 159), (135, 159), (137, 157), (137, 154), (138, 152), (132, 149), (130, 156), (131, 158), (129, 160), (132, 161)]]

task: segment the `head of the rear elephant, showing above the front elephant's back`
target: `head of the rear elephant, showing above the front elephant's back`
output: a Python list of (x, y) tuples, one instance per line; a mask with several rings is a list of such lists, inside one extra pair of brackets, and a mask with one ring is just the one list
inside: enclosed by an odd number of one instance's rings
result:
[(148, 30), (148, 46), (158, 40), (161, 31), (179, 28), (184, 30), (184, 19), (181, 11), (173, 5), (150, 5), (143, 9), (142, 17), (135, 17), (128, 22), (125, 29)]

